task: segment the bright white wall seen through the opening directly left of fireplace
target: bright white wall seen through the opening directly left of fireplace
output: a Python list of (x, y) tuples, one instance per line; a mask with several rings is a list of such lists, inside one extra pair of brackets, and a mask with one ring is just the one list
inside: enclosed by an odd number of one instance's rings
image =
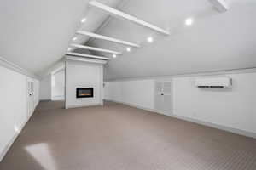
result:
[(52, 99), (64, 99), (65, 95), (65, 71), (57, 71), (52, 75), (54, 77), (54, 82), (51, 86), (51, 98)]

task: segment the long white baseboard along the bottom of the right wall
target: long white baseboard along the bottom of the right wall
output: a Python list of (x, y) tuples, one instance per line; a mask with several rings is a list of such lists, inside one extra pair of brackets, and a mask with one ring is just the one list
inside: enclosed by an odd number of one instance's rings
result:
[(184, 120), (184, 121), (195, 122), (197, 124), (201, 124), (201, 125), (204, 125), (204, 126), (207, 126), (207, 127), (218, 128), (220, 130), (224, 130), (224, 131), (227, 131), (227, 132), (230, 132), (230, 133), (236, 133), (236, 134), (240, 134), (242, 136), (247, 136), (247, 137), (256, 139), (256, 133), (244, 131), (244, 130), (241, 130), (241, 129), (237, 129), (237, 128), (233, 128), (233, 127), (226, 127), (226, 126), (218, 125), (218, 124), (215, 124), (215, 123), (212, 123), (212, 122), (204, 122), (204, 121), (201, 121), (201, 120), (197, 120), (197, 119), (193, 119), (193, 118), (189, 118), (189, 117), (184, 117), (184, 116), (177, 116), (177, 115), (173, 115), (173, 114), (168, 115), (164, 112), (156, 111), (156, 110), (151, 109), (151, 108), (146, 108), (146, 107), (142, 107), (140, 105), (125, 103), (125, 102), (121, 102), (121, 101), (117, 101), (117, 100), (113, 100), (113, 99), (106, 99), (106, 100), (107, 101), (112, 101), (112, 102), (115, 102), (115, 103), (119, 103), (119, 104), (123, 104), (123, 105), (129, 105), (131, 107), (136, 107), (137, 109), (142, 109), (142, 110), (145, 110), (145, 111), (155, 112), (157, 114), (161, 114), (161, 115), (165, 115), (165, 116), (172, 116), (172, 117), (175, 117), (177, 119)]

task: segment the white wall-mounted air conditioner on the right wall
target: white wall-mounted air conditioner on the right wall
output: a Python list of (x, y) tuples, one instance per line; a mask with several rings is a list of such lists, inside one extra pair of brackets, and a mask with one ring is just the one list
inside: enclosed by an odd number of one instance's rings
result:
[(195, 80), (198, 88), (232, 88), (230, 77), (202, 77)]

